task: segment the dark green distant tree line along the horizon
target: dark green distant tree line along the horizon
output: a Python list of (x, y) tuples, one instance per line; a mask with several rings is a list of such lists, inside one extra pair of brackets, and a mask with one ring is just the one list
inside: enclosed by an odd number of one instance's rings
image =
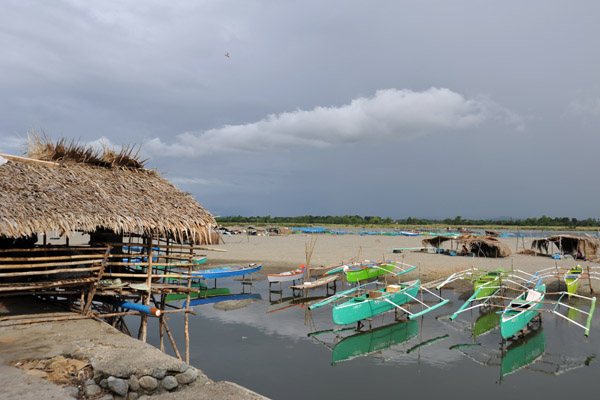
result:
[(461, 216), (446, 219), (426, 219), (408, 217), (405, 219), (381, 218), (377, 216), (342, 215), (342, 216), (315, 216), (301, 215), (297, 217), (243, 217), (241, 215), (230, 217), (215, 218), (218, 223), (236, 223), (236, 224), (270, 224), (270, 225), (449, 225), (449, 226), (523, 226), (523, 227), (600, 227), (600, 220), (587, 218), (579, 220), (577, 218), (557, 217), (550, 218), (542, 216), (540, 218), (525, 219), (466, 219)]

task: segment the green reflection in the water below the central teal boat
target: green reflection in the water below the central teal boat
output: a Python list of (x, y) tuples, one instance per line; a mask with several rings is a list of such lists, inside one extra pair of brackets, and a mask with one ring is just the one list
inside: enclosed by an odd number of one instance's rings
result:
[(409, 341), (416, 337), (418, 333), (419, 323), (411, 320), (348, 336), (338, 342), (333, 348), (331, 364), (335, 365), (340, 361), (385, 350), (395, 344)]

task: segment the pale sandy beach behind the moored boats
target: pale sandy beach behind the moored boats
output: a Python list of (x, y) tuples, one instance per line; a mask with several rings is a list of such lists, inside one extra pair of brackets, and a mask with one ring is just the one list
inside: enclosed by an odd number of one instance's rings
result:
[[(310, 266), (315, 268), (313, 276), (322, 271), (321, 267), (332, 267), (357, 260), (398, 260), (419, 267), (424, 282), (438, 279), (453, 272), (475, 266), (491, 270), (520, 269), (529, 273), (550, 267), (572, 267), (577, 264), (592, 265), (588, 261), (572, 258), (555, 260), (546, 255), (515, 254), (517, 239), (502, 238), (513, 254), (503, 258), (463, 257), (431, 254), (420, 251), (394, 253), (394, 248), (421, 247), (424, 236), (384, 236), (384, 235), (307, 235), (289, 234), (274, 236), (249, 236), (245, 234), (224, 236), (223, 243), (215, 248), (225, 252), (208, 251), (206, 267), (226, 264), (248, 264), (263, 262), (262, 273), (282, 272), (306, 264), (306, 249), (311, 241), (314, 244)], [(525, 238), (525, 247), (530, 248), (532, 238)], [(523, 239), (519, 239), (519, 251), (523, 250)], [(417, 270), (416, 270), (417, 271)], [(260, 278), (260, 276), (259, 276)], [(582, 285), (586, 286), (587, 285)], [(582, 288), (584, 289), (584, 288)]]

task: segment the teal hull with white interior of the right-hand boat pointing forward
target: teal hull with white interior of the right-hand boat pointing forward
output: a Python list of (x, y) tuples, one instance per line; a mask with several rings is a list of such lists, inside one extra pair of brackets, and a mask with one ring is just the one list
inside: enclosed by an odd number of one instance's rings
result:
[(500, 334), (502, 337), (508, 339), (524, 329), (529, 321), (539, 314), (545, 295), (546, 285), (541, 284), (527, 289), (512, 300), (504, 311), (501, 311)]

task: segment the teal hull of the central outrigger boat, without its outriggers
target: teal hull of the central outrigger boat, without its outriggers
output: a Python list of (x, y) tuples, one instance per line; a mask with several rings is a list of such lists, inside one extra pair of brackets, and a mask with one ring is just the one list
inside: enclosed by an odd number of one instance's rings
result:
[(410, 283), (401, 283), (402, 290), (396, 293), (389, 293), (383, 288), (374, 292), (381, 294), (381, 297), (372, 298), (369, 294), (353, 297), (352, 299), (339, 304), (332, 309), (333, 322), (337, 325), (352, 324), (374, 315), (378, 315), (393, 309), (396, 305), (406, 304), (416, 297), (419, 292), (419, 280)]

